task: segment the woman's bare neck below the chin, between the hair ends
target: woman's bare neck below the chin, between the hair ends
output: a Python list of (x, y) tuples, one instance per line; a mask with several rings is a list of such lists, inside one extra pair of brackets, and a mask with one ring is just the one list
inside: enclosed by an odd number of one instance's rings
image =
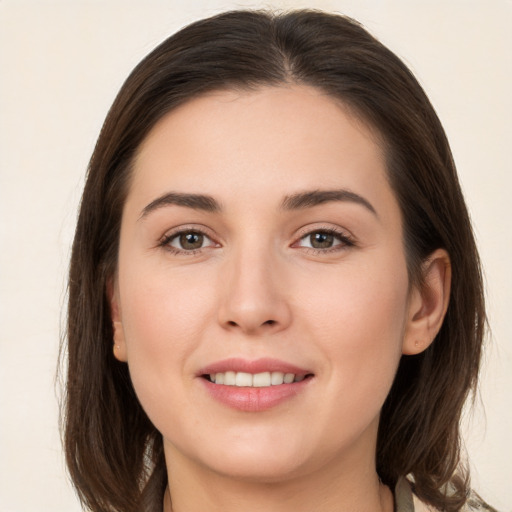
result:
[(179, 464), (176, 455), (168, 464), (164, 512), (393, 511), (393, 495), (380, 483), (374, 466), (323, 466), (284, 481), (255, 482)]

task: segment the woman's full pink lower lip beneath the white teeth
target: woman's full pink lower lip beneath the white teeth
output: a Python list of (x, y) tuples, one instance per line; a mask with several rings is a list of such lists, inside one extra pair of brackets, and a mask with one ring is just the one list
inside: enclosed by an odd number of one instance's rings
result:
[(307, 377), (300, 382), (262, 388), (226, 386), (224, 384), (214, 384), (204, 378), (201, 378), (201, 380), (210, 396), (218, 402), (239, 411), (259, 412), (293, 399), (304, 391), (312, 379)]

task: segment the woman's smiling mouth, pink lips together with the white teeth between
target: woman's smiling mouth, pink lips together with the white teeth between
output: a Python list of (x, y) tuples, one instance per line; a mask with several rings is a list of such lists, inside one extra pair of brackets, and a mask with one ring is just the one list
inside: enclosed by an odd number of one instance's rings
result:
[(307, 388), (312, 372), (276, 359), (226, 359), (200, 370), (209, 395), (230, 408), (257, 412), (292, 400)]

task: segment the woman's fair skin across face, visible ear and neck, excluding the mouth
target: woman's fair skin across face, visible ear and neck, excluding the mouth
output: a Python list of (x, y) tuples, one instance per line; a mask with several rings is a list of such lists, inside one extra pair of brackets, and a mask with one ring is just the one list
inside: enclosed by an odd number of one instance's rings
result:
[[(316, 190), (368, 204), (283, 208)], [(148, 208), (170, 192), (220, 209)], [(332, 247), (312, 248), (325, 230)], [(180, 246), (191, 231), (204, 233), (198, 250)], [(110, 296), (115, 355), (163, 435), (173, 510), (391, 511), (375, 471), (379, 413), (402, 354), (441, 325), (447, 255), (424, 273), (428, 286), (411, 287), (378, 136), (332, 98), (223, 91), (164, 117), (135, 161)], [(313, 377), (276, 407), (239, 411), (197, 374), (230, 357)]]

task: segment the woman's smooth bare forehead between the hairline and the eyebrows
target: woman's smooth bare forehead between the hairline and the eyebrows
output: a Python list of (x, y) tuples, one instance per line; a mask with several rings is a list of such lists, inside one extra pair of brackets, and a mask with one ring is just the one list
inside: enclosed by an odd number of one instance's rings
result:
[(203, 95), (164, 116), (139, 148), (131, 195), (261, 201), (341, 186), (391, 193), (378, 135), (322, 91), (283, 86)]

